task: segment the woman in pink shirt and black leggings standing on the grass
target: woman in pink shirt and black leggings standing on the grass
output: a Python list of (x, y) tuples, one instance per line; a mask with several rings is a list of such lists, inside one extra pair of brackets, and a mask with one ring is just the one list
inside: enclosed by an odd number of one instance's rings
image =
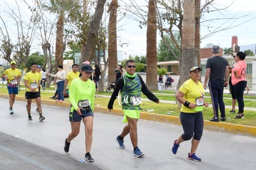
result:
[(247, 64), (244, 61), (246, 54), (242, 51), (236, 54), (236, 64), (232, 69), (231, 81), (234, 86), (234, 94), (238, 103), (238, 113), (234, 119), (241, 119), (244, 117), (244, 88), (247, 85), (246, 81), (246, 68)]

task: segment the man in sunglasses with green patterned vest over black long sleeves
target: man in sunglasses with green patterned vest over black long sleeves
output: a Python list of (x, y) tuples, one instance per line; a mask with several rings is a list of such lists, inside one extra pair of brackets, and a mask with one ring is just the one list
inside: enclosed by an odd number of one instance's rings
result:
[(130, 140), (134, 147), (133, 155), (137, 158), (144, 155), (138, 147), (138, 135), (137, 135), (137, 121), (140, 117), (140, 103), (141, 92), (147, 96), (148, 99), (159, 103), (158, 98), (148, 90), (147, 86), (142, 80), (140, 75), (135, 74), (135, 63), (132, 60), (126, 61), (126, 74), (117, 80), (116, 88), (114, 88), (113, 94), (108, 103), (108, 109), (113, 109), (114, 100), (121, 93), (122, 110), (124, 112), (124, 121), (128, 122), (122, 129), (122, 133), (117, 135), (116, 142), (119, 144), (119, 148), (126, 148), (124, 146), (124, 137), (130, 134)]

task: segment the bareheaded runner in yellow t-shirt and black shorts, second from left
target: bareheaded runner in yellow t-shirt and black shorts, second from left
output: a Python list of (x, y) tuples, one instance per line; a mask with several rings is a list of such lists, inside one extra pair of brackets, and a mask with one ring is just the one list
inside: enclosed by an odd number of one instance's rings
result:
[(41, 122), (45, 120), (45, 117), (42, 115), (41, 96), (39, 92), (41, 75), (36, 71), (37, 65), (35, 63), (31, 64), (30, 69), (31, 71), (28, 72), (24, 77), (26, 87), (25, 98), (27, 99), (26, 108), (28, 113), (28, 120), (33, 120), (30, 111), (32, 99), (35, 99), (39, 113), (39, 121)]

